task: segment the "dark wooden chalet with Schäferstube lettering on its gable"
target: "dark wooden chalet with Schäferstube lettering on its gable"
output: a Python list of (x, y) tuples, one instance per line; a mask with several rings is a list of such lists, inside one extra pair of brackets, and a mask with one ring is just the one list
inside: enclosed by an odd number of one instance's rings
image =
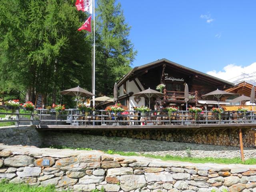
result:
[[(118, 82), (118, 100), (128, 109), (135, 106), (148, 105), (148, 99), (132, 96), (142, 90), (151, 88), (156, 90), (160, 83), (166, 85), (163, 98), (152, 98), (150, 106), (154, 110), (156, 104), (162, 106), (177, 106), (185, 110), (184, 87), (188, 84), (192, 106), (204, 106), (201, 96), (216, 90), (225, 90), (234, 86), (233, 83), (205, 74), (203, 72), (182, 66), (165, 58), (133, 68)], [(209, 101), (210, 102), (210, 101)], [(185, 105), (184, 105), (185, 104)], [(202, 105), (201, 105), (202, 104)]]

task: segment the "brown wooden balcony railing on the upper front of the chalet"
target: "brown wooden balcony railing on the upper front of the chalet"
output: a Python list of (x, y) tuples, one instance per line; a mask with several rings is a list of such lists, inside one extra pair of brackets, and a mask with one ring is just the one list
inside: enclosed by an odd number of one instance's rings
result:
[[(167, 101), (184, 101), (185, 99), (184, 92), (181, 91), (167, 91), (164, 89), (164, 94), (166, 94), (166, 96), (164, 96), (164, 100)], [(197, 103), (198, 92), (189, 92), (188, 98), (190, 101), (195, 101)]]

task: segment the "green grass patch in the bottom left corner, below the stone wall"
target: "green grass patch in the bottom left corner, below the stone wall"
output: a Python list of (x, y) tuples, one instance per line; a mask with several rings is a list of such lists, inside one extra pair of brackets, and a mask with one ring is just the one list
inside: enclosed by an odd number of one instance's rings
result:
[(54, 186), (32, 187), (26, 184), (8, 183), (6, 180), (0, 182), (0, 192), (56, 192)]

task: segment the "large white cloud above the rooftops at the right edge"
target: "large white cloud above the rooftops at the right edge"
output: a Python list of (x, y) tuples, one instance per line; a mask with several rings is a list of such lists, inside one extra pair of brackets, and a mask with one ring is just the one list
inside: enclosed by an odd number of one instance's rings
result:
[(217, 72), (216, 70), (212, 70), (206, 73), (229, 82), (238, 83), (247, 81), (256, 84), (256, 62), (244, 67), (236, 64), (229, 64), (221, 71)]

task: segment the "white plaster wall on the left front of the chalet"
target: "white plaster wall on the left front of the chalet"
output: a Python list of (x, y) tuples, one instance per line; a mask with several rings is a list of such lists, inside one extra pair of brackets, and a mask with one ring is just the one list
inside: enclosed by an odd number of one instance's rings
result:
[[(144, 90), (142, 84), (140, 83), (140, 81), (138, 80), (138, 78), (136, 78), (136, 81), (138, 82), (140, 88), (142, 90)], [(126, 88), (127, 88), (127, 92), (134, 92), (134, 94), (140, 92), (140, 90), (138, 89), (138, 87), (136, 86), (136, 84), (134, 83), (134, 81), (129, 82), (129, 80), (126, 82)], [(133, 110), (133, 107), (139, 107), (145, 105), (145, 98), (141, 97), (140, 102), (137, 104), (134, 101), (134, 96), (130, 96), (129, 98), (129, 110)]]

